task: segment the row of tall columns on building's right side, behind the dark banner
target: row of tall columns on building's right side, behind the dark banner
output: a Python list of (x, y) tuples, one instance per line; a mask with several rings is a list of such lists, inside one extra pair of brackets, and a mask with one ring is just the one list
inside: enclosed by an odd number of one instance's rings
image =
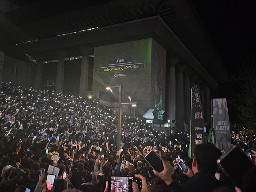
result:
[[(169, 58), (169, 99), (168, 119), (171, 128), (184, 131), (184, 124), (190, 130), (190, 103), (191, 88), (198, 85), (200, 90), (201, 104), (203, 108), (204, 122), (211, 122), (211, 92), (202, 79), (187, 69), (179, 58)], [(175, 120), (175, 123), (172, 122)]]

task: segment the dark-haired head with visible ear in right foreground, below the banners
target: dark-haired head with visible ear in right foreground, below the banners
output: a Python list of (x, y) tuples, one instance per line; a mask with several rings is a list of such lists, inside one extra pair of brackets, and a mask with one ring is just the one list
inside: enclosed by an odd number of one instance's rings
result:
[(215, 174), (218, 169), (217, 160), (222, 155), (221, 151), (213, 143), (196, 145), (192, 171), (195, 173)]

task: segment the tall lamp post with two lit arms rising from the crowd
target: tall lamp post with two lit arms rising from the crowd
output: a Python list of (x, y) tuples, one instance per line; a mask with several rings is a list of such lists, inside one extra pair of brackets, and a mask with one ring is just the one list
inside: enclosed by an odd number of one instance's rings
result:
[(121, 144), (121, 132), (122, 132), (122, 105), (132, 105), (136, 106), (137, 103), (121, 103), (122, 101), (122, 86), (116, 85), (116, 86), (110, 86), (106, 87), (106, 90), (110, 90), (111, 88), (119, 88), (119, 97), (118, 97), (118, 117), (117, 117), (117, 150), (120, 150), (120, 144)]

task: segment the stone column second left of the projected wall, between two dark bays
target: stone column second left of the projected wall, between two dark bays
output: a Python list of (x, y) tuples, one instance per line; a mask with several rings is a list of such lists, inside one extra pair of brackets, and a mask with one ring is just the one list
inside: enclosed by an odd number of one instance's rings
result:
[(57, 76), (56, 76), (56, 93), (63, 93), (64, 86), (64, 59), (68, 56), (67, 51), (55, 51), (56, 56), (58, 57), (58, 67), (57, 67)]

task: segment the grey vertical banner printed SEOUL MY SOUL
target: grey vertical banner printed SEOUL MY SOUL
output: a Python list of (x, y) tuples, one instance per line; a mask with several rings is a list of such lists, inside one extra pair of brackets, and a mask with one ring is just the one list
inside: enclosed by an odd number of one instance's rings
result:
[(212, 127), (215, 130), (216, 147), (227, 151), (231, 147), (231, 135), (226, 98), (212, 99)]

